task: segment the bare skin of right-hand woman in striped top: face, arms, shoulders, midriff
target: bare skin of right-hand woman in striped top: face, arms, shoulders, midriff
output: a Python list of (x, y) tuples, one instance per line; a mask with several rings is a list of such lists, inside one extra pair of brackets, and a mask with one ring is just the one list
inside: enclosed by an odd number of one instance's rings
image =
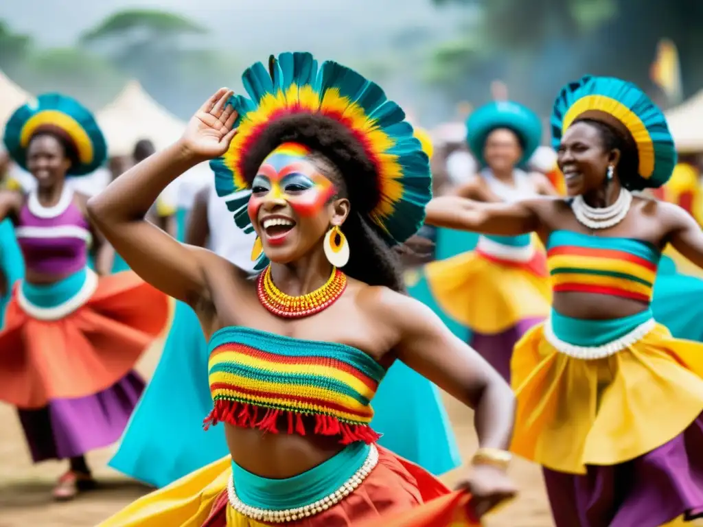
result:
[[(620, 193), (618, 165), (621, 152), (608, 150), (600, 130), (588, 122), (575, 122), (562, 138), (558, 164), (567, 181), (570, 197), (583, 195), (591, 207), (607, 207)], [(614, 178), (607, 181), (609, 165)], [(576, 221), (567, 200), (536, 198), (514, 203), (481, 203), (462, 197), (438, 197), (427, 205), (427, 223), (496, 235), (536, 232), (547, 243), (555, 230), (569, 230), (594, 236), (635, 238), (664, 249), (667, 243), (699, 267), (703, 267), (703, 233), (696, 221), (675, 204), (633, 197), (621, 223), (591, 230)], [(648, 305), (633, 299), (602, 294), (555, 292), (554, 308), (564, 315), (607, 320), (633, 315)]]

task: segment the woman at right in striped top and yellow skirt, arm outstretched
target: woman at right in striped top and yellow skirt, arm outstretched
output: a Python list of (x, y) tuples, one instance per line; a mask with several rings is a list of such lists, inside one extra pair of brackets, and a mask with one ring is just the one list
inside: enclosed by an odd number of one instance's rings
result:
[(515, 346), (512, 451), (545, 467), (558, 527), (657, 527), (703, 512), (703, 346), (650, 310), (668, 243), (703, 266), (703, 233), (673, 204), (631, 190), (666, 183), (676, 150), (633, 84), (583, 77), (552, 115), (569, 199), (482, 204), (456, 197), (428, 221), (547, 248), (550, 318)]

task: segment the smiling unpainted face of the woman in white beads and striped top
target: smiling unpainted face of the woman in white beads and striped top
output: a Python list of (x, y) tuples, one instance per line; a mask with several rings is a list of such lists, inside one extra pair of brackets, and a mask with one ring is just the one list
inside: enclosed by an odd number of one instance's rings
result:
[(598, 126), (575, 122), (562, 137), (557, 164), (567, 184), (569, 196), (601, 188), (609, 164), (617, 164), (619, 152), (606, 148)]

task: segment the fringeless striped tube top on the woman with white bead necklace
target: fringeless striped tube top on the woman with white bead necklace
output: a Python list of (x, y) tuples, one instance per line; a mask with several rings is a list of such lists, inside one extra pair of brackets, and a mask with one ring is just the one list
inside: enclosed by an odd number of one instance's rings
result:
[(610, 294), (649, 302), (661, 253), (634, 238), (555, 230), (547, 242), (554, 292)]

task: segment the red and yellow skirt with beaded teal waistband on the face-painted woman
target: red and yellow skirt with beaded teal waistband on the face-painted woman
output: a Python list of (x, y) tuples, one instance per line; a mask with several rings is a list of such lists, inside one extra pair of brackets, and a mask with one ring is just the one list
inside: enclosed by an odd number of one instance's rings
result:
[[(140, 498), (100, 527), (265, 527), (276, 519), (300, 527), (359, 526), (416, 507), (419, 512), (425, 502), (448, 494), (437, 479), (388, 450), (352, 443), (288, 479), (257, 476), (224, 457)], [(478, 525), (467, 513), (463, 519), (452, 525)], [(415, 525), (450, 523), (428, 518)]]

